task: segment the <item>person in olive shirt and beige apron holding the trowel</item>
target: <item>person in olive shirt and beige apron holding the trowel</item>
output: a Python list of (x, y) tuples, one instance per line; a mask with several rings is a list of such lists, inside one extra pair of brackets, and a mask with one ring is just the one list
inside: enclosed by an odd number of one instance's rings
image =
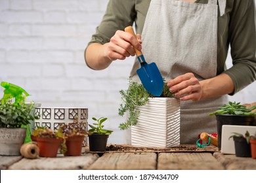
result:
[[(137, 39), (123, 29), (135, 23)], [(225, 68), (228, 47), (233, 66)], [(181, 99), (181, 143), (216, 132), (209, 113), (256, 78), (253, 0), (110, 0), (85, 50), (92, 69), (142, 50)], [(136, 60), (131, 76), (139, 80)]]

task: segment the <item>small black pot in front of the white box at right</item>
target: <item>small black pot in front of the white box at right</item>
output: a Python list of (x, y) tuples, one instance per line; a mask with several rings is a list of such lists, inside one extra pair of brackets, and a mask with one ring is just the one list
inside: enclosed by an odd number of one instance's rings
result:
[(237, 157), (251, 157), (251, 146), (244, 137), (233, 137)]

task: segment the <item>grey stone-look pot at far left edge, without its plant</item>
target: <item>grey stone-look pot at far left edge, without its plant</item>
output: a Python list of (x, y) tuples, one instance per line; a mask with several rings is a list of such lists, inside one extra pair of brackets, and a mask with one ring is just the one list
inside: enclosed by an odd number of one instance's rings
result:
[(20, 156), (26, 128), (0, 128), (0, 155)]

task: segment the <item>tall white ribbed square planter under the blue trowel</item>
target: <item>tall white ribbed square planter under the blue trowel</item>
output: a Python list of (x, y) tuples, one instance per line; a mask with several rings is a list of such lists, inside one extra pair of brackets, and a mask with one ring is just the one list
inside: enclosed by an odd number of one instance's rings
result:
[(131, 145), (170, 148), (180, 144), (180, 101), (150, 98), (140, 110), (137, 125), (131, 126)]

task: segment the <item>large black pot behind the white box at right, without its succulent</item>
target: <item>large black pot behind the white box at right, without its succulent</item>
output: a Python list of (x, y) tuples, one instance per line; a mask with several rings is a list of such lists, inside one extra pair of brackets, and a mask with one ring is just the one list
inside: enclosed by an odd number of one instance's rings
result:
[(255, 116), (215, 114), (217, 120), (218, 148), (221, 150), (221, 133), (223, 125), (256, 125)]

